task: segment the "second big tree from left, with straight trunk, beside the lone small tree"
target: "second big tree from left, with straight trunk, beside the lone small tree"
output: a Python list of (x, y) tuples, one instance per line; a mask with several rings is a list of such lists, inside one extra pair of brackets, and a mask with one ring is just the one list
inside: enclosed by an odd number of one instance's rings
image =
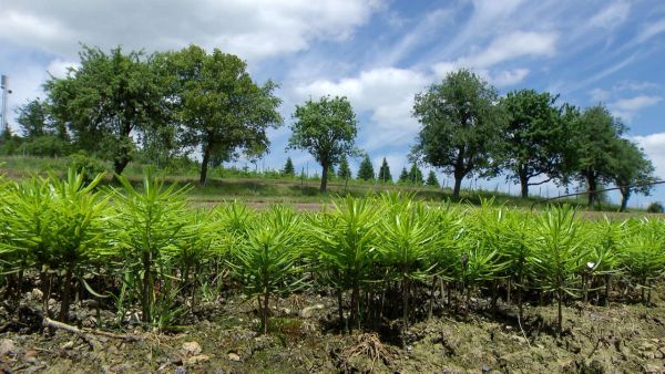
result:
[(190, 45), (161, 55), (172, 76), (171, 102), (182, 124), (183, 142), (201, 147), (200, 183), (205, 184), (212, 160), (239, 156), (257, 157), (270, 144), (266, 131), (283, 120), (277, 107), (282, 100), (273, 94), (277, 85), (256, 84), (238, 56), (218, 49), (206, 53)]

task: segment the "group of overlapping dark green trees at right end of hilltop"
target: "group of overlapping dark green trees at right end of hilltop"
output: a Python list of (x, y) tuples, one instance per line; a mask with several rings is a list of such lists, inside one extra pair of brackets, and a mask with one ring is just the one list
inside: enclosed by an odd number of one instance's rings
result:
[(557, 98), (533, 90), (499, 97), (472, 72), (450, 73), (416, 95), (413, 115), (422, 126), (411, 155), (452, 174), (456, 197), (464, 177), (501, 172), (520, 184), (523, 197), (533, 185), (580, 181), (591, 206), (598, 186), (614, 184), (625, 210), (631, 194), (647, 194), (654, 167), (623, 137), (621, 120), (604, 105), (581, 110)]

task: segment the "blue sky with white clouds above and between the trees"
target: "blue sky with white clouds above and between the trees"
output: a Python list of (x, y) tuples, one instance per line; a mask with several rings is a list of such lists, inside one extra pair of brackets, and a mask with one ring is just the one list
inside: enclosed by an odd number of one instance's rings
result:
[[(276, 81), (285, 121), (270, 131), (259, 167), (280, 168), (290, 156), (296, 169), (317, 170), (309, 155), (285, 148), (295, 105), (330, 94), (349, 98), (357, 145), (375, 169), (386, 157), (397, 177), (419, 131), (415, 94), (466, 67), (501, 94), (534, 89), (581, 107), (605, 104), (665, 178), (662, 0), (0, 0), (11, 114), (43, 97), (49, 74), (76, 65), (81, 43), (147, 53), (218, 48), (245, 60), (256, 82)], [(518, 191), (503, 177), (479, 185)], [(556, 194), (552, 185), (538, 191)], [(665, 201), (665, 187), (631, 202), (653, 200)]]

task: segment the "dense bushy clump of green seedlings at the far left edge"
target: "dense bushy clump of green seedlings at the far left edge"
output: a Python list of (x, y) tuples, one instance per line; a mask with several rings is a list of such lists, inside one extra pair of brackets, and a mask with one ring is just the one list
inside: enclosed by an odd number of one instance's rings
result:
[(98, 175), (85, 185), (83, 175), (70, 168), (64, 180), (33, 177), (8, 193), (4, 225), (9, 240), (2, 251), (13, 258), (19, 284), (24, 270), (40, 272), (44, 315), (52, 277), (61, 280), (59, 319), (66, 321), (73, 280), (88, 287), (84, 276), (102, 256), (108, 204), (95, 189), (101, 179)]

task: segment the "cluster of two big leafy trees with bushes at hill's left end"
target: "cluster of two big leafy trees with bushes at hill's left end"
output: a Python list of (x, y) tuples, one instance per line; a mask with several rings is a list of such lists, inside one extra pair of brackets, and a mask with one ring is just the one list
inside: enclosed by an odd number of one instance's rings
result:
[(200, 150), (209, 165), (264, 154), (266, 131), (283, 118), (272, 81), (255, 83), (246, 63), (191, 45), (146, 55), (83, 46), (79, 67), (44, 83), (47, 98), (19, 108), (32, 141), (64, 142), (113, 163), (122, 174), (137, 148), (154, 160)]

